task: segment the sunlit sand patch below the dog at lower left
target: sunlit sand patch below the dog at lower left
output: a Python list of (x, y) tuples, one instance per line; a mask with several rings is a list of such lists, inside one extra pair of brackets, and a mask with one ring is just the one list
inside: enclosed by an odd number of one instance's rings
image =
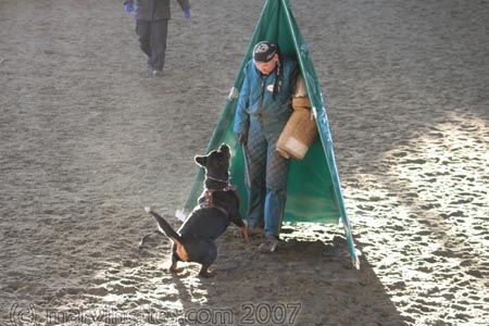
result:
[(171, 274), (166, 272), (170, 261), (165, 261), (161, 247), (150, 251), (151, 255), (158, 251), (158, 258), (108, 263), (87, 288), (68, 290), (60, 297), (57, 314), (48, 316), (49, 322), (70, 325), (65, 318), (71, 317), (108, 324), (178, 325), (186, 310), (208, 302), (208, 291), (197, 277), (197, 265), (183, 263), (178, 274)]

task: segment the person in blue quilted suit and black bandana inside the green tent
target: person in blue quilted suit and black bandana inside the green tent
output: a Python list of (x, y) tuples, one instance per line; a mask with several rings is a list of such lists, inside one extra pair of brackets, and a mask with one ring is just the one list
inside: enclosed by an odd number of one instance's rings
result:
[(284, 217), (289, 161), (279, 155), (276, 143), (292, 113), (298, 75), (296, 61), (283, 57), (276, 43), (261, 41), (244, 67), (239, 92), (234, 133), (248, 164), (248, 227), (251, 234), (264, 227), (262, 252), (275, 250)]

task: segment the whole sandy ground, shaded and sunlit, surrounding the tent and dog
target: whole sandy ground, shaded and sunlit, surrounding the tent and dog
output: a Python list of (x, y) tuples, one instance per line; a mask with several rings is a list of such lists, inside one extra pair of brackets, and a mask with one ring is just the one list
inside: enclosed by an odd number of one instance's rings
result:
[(489, 324), (489, 2), (292, 0), (328, 97), (362, 269), (338, 226), (273, 255), (229, 230), (168, 275), (189, 191), (263, 1), (195, 1), (150, 78), (112, 1), (0, 0), (0, 324)]

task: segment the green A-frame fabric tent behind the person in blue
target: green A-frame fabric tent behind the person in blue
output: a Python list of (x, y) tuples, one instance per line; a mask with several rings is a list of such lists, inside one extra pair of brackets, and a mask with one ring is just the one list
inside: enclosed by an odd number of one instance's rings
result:
[[(327, 106), (321, 92), (319, 82), (309, 54), (308, 45), (292, 15), (289, 0), (267, 0), (265, 2), (208, 151), (216, 149), (223, 142), (231, 148), (230, 175), (233, 185), (238, 189), (241, 198), (241, 215), (246, 216), (248, 195), (244, 186), (244, 160), (242, 149), (233, 133), (233, 124), (239, 89), (244, 77), (244, 65), (251, 59), (253, 46), (261, 40), (278, 43), (285, 55), (294, 58), (299, 63), (319, 134), (305, 158), (302, 161), (292, 160), (290, 164), (284, 220), (292, 223), (342, 222), (351, 261), (359, 267), (360, 263), (333, 151), (333, 140), (326, 115)], [(203, 178), (203, 171), (200, 170), (185, 204), (186, 211), (191, 211), (196, 205), (202, 189)]]

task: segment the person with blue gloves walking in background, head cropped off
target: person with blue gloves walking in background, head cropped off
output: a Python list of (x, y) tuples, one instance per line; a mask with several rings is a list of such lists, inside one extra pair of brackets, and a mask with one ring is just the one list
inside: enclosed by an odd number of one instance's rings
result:
[[(188, 0), (176, 0), (190, 18)], [(136, 34), (142, 52), (148, 57), (148, 66), (153, 76), (163, 74), (168, 34), (170, 0), (124, 0), (124, 11), (136, 13)]]

